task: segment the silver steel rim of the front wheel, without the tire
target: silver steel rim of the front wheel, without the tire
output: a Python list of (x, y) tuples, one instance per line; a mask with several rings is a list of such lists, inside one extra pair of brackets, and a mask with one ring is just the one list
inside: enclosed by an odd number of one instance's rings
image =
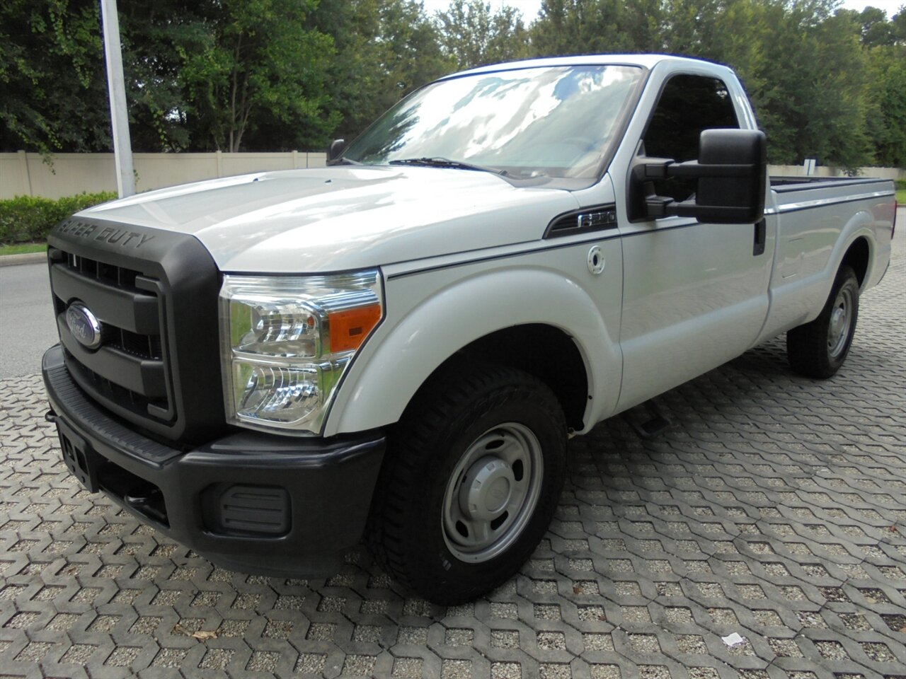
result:
[(535, 512), (544, 459), (527, 426), (506, 422), (468, 446), (444, 493), (442, 530), (462, 561), (494, 559), (519, 537)]

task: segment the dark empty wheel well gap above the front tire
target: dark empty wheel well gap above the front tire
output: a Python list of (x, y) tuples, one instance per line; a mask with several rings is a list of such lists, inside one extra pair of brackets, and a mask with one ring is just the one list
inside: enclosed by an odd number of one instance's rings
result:
[(474, 359), (525, 370), (554, 392), (566, 425), (583, 428), (588, 376), (579, 348), (563, 330), (542, 323), (496, 330), (458, 351), (456, 359)]

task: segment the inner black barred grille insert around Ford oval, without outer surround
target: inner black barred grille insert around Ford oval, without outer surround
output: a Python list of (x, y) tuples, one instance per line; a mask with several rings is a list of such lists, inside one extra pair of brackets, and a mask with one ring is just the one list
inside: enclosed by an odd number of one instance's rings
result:
[[(167, 366), (156, 279), (63, 250), (53, 250), (51, 257), (60, 339), (73, 377), (101, 400), (112, 401), (139, 416), (171, 419), (169, 388), (163, 386)], [(75, 300), (82, 301), (101, 320), (101, 348), (97, 351), (83, 349), (69, 332), (65, 314)], [(137, 311), (142, 305), (144, 311)], [(148, 377), (154, 373), (157, 377)]]

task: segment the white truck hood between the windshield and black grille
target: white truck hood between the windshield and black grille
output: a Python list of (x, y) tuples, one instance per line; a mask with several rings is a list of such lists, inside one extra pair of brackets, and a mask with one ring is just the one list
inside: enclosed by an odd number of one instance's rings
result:
[(436, 167), (265, 172), (130, 196), (80, 215), (195, 235), (221, 271), (342, 271), (524, 243), (568, 191)]

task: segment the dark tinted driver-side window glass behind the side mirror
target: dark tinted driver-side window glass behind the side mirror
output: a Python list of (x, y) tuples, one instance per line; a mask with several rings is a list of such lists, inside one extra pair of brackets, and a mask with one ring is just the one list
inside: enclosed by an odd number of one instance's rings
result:
[[(727, 86), (716, 78), (675, 75), (660, 93), (657, 108), (642, 137), (643, 153), (677, 162), (699, 157), (703, 129), (738, 128), (736, 110)], [(695, 180), (662, 179), (654, 182), (659, 196), (686, 200), (695, 193)]]

